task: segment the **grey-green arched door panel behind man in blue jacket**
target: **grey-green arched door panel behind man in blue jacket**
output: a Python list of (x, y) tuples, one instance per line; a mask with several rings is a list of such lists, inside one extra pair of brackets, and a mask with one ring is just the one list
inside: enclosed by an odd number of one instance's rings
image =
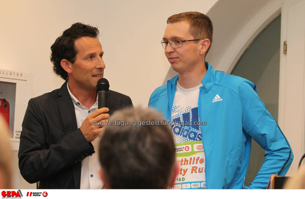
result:
[[(278, 121), (280, 39), (281, 16), (278, 16), (253, 40), (231, 72), (257, 86), (258, 96), (276, 121)], [(250, 185), (260, 170), (264, 154), (264, 149), (252, 140), (246, 186)]]

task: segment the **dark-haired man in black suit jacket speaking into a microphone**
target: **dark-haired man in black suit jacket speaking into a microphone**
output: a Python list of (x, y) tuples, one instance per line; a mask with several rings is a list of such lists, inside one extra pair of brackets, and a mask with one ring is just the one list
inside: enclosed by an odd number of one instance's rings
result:
[[(44, 189), (99, 189), (100, 121), (131, 99), (108, 91), (108, 107), (98, 109), (96, 84), (104, 75), (99, 30), (75, 23), (51, 46), (61, 88), (30, 99), (22, 123), (18, 153), (20, 173)], [(97, 122), (97, 123), (95, 123)], [(104, 122), (102, 124), (105, 124)]]

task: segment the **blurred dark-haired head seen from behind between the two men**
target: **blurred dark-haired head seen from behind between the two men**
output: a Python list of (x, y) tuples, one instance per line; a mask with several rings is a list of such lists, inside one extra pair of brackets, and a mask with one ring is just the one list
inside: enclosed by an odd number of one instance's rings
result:
[[(174, 138), (152, 109), (115, 112), (99, 145), (100, 176), (108, 189), (166, 189), (178, 174)], [(119, 120), (119, 121), (118, 121)], [(160, 125), (143, 125), (159, 120)], [(122, 125), (122, 122), (129, 122)], [(127, 124), (127, 125), (126, 125)]]

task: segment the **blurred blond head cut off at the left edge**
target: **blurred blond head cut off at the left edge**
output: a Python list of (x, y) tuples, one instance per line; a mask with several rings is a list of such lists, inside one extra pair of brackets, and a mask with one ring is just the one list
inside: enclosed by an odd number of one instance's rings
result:
[(0, 114), (0, 189), (11, 187), (11, 150), (9, 147), (9, 127)]

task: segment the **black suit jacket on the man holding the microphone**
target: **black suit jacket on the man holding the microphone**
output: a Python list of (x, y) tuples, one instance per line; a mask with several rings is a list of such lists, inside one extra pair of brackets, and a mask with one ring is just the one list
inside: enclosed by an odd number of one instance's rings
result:
[[(108, 91), (107, 106), (115, 110), (132, 106), (130, 97)], [(29, 100), (22, 123), (18, 152), (20, 173), (44, 189), (79, 189), (81, 160), (94, 153), (77, 128), (74, 105), (66, 82)]]

